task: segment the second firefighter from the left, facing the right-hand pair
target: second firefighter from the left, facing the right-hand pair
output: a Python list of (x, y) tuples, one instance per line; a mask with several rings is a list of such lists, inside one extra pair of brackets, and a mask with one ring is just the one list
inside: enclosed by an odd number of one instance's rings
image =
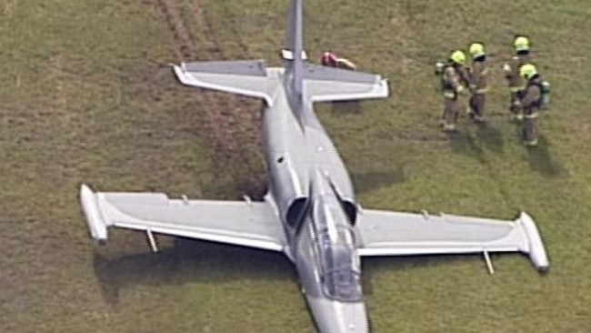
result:
[(485, 121), (485, 101), (488, 91), (488, 67), (486, 64), (485, 45), (472, 43), (468, 47), (472, 64), (468, 69), (468, 85), (470, 87), (470, 102), (468, 114), (476, 122)]

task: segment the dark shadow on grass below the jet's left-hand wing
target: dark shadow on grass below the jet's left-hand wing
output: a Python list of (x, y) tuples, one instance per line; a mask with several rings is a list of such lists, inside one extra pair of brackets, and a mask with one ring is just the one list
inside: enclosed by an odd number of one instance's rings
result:
[(234, 247), (175, 237), (174, 245), (158, 253), (121, 257), (95, 251), (93, 257), (105, 301), (119, 302), (119, 292), (135, 285), (219, 284), (235, 280), (297, 282), (295, 268), (280, 252)]

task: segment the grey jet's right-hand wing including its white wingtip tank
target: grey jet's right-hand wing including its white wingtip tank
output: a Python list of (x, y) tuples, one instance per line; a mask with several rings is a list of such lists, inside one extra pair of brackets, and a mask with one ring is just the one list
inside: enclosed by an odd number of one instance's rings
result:
[(536, 224), (524, 212), (506, 221), (364, 210), (357, 226), (360, 256), (519, 251), (540, 270), (549, 265)]

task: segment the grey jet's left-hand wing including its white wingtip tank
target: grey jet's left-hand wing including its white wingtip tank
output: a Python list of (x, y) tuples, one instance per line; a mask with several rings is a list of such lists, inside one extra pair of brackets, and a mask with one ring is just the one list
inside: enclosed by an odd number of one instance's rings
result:
[[(80, 201), (91, 237), (104, 243), (107, 227), (145, 230), (245, 247), (282, 251), (283, 229), (264, 202), (170, 199), (162, 193), (93, 192), (83, 185)], [(155, 249), (155, 248), (154, 248)]]

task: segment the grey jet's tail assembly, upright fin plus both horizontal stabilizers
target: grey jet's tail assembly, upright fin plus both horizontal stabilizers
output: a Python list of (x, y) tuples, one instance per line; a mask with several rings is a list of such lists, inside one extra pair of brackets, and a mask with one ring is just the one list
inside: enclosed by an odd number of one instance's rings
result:
[[(304, 51), (303, 0), (290, 0), (286, 26), (285, 88), (290, 102), (344, 101), (388, 96), (388, 83), (381, 76), (306, 63)], [(205, 61), (174, 66), (175, 75), (187, 86), (199, 86), (273, 103), (269, 71), (263, 60)]]

